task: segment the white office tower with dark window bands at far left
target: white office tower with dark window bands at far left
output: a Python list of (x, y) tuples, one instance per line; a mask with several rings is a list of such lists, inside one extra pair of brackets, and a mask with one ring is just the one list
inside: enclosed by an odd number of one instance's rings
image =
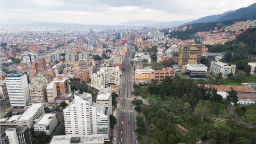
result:
[(6, 78), (11, 107), (26, 107), (30, 94), (26, 74), (10, 75)]

